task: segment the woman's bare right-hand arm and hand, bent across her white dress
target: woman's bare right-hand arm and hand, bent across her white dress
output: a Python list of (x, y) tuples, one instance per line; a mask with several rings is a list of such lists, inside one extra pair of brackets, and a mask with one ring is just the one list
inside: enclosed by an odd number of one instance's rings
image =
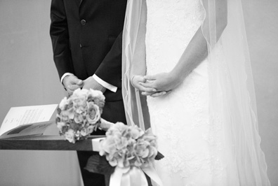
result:
[[(220, 38), (227, 25), (227, 0), (216, 0), (216, 32)], [(206, 7), (206, 4), (204, 4)], [(149, 81), (140, 83), (144, 87), (154, 87), (157, 91), (169, 91), (177, 87), (208, 55), (207, 42), (201, 27), (194, 34), (192, 40), (180, 57), (178, 64), (169, 73), (159, 73), (154, 76), (145, 76)], [(150, 95), (152, 92), (143, 92)]]

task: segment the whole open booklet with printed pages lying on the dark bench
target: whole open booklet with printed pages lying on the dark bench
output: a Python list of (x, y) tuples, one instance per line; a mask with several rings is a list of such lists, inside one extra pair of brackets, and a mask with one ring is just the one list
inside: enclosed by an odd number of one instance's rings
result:
[(53, 104), (12, 107), (1, 124), (0, 138), (44, 134), (46, 129), (55, 125), (57, 106)]

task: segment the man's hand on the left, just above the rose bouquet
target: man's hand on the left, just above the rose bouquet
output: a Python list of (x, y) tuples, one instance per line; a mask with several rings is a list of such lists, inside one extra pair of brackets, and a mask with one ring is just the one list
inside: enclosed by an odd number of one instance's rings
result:
[(79, 80), (79, 78), (74, 75), (65, 76), (65, 78), (62, 80), (62, 85), (64, 85), (69, 96), (72, 95), (74, 90), (83, 87), (83, 84), (83, 80)]

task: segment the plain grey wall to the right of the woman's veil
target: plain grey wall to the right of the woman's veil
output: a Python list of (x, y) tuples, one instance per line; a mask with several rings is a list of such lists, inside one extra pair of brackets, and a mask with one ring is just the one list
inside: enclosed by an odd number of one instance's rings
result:
[(241, 0), (255, 82), (267, 175), (278, 185), (278, 1)]

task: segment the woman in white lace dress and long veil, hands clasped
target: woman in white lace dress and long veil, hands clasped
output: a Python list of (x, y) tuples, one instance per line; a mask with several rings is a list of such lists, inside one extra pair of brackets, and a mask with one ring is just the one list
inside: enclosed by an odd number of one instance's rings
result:
[(240, 8), (238, 0), (128, 1), (126, 115), (143, 128), (150, 113), (165, 186), (270, 185)]

